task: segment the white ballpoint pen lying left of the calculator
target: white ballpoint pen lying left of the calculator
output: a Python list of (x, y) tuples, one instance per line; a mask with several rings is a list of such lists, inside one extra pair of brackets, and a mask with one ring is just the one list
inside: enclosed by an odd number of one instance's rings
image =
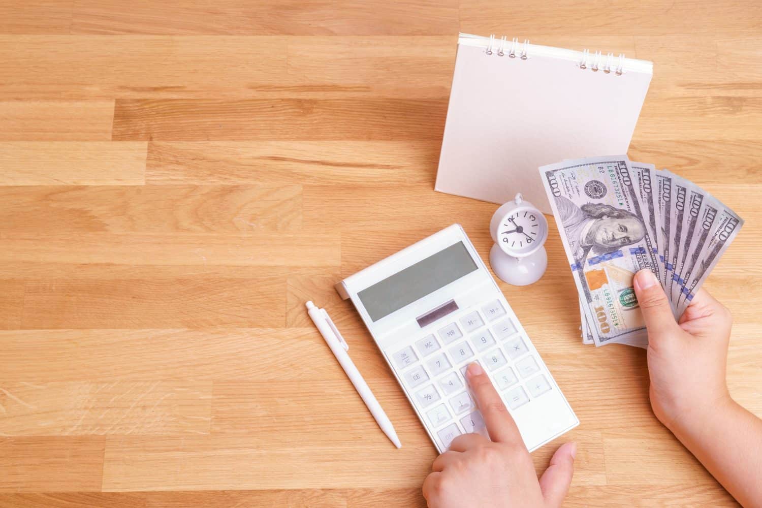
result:
[(368, 407), (368, 411), (370, 411), (370, 414), (376, 419), (376, 423), (379, 424), (383, 433), (385, 433), (392, 443), (394, 443), (394, 446), (402, 448), (402, 443), (399, 443), (399, 437), (397, 437), (397, 433), (392, 426), (391, 420), (389, 420), (389, 417), (384, 413), (379, 401), (373, 396), (373, 392), (368, 388), (365, 379), (360, 375), (360, 371), (354, 366), (352, 359), (349, 357), (349, 354), (347, 354), (349, 345), (347, 344), (347, 341), (344, 340), (344, 337), (341, 337), (341, 333), (339, 333), (334, 322), (331, 321), (328, 312), (325, 312), (325, 308), (317, 308), (312, 301), (307, 302), (305, 305), (307, 306), (307, 314), (312, 318), (312, 322), (315, 323), (315, 326), (318, 327), (318, 331), (325, 339), (325, 342), (328, 343), (328, 347), (331, 348), (331, 352), (334, 353), (338, 363), (341, 364), (341, 368), (347, 373), (347, 376), (357, 390), (357, 393), (360, 394), (360, 398), (363, 399), (363, 402), (365, 402), (365, 405)]

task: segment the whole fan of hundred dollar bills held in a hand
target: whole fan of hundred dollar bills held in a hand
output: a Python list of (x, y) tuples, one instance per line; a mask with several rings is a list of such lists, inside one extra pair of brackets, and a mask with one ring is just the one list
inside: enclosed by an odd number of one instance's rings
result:
[(657, 274), (678, 318), (744, 223), (700, 187), (626, 155), (539, 171), (579, 291), (584, 343), (647, 347), (635, 273)]

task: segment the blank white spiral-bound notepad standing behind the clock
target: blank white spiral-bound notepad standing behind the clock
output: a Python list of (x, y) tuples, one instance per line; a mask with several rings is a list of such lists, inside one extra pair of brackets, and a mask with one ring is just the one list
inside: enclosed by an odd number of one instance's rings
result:
[(626, 153), (652, 62), (460, 34), (437, 184), (551, 213), (537, 168)]

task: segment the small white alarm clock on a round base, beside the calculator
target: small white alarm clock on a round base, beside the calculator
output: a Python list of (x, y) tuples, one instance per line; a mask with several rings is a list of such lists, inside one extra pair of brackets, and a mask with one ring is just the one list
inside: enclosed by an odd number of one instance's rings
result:
[(489, 224), (492, 241), (489, 264), (501, 280), (514, 286), (536, 283), (548, 267), (543, 244), (548, 221), (543, 212), (516, 194), (497, 209)]

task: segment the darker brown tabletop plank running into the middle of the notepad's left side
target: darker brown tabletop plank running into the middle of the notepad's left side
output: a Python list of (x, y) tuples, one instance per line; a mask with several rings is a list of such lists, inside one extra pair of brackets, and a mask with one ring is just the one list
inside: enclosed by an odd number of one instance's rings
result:
[(405, 99), (119, 100), (113, 139), (439, 139), (447, 101)]

